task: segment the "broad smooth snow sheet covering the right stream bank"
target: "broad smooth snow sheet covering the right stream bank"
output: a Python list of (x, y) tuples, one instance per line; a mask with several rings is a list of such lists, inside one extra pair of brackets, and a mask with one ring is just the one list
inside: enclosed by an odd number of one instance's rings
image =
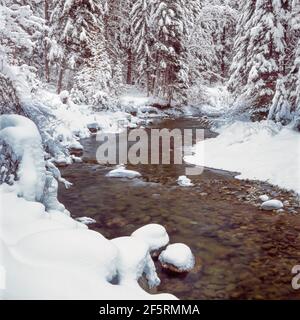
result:
[[(185, 161), (239, 172), (239, 179), (267, 181), (300, 193), (300, 134), (272, 121), (237, 121), (200, 142)], [(204, 157), (201, 148), (204, 144)]]

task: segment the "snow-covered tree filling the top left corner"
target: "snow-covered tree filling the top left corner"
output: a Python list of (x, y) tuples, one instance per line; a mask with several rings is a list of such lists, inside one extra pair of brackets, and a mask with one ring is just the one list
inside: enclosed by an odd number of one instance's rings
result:
[(36, 71), (26, 62), (42, 30), (43, 21), (28, 5), (0, 1), (0, 113), (24, 113)]

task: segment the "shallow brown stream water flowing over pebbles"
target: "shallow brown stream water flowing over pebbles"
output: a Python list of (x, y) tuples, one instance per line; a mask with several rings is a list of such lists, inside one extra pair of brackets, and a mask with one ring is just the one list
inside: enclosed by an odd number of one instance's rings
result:
[[(165, 120), (153, 127), (202, 127), (206, 137), (214, 136), (198, 119)], [(74, 217), (96, 219), (90, 228), (108, 238), (159, 223), (171, 242), (186, 243), (195, 254), (196, 268), (180, 277), (163, 272), (156, 263), (161, 279), (157, 292), (181, 299), (300, 298), (300, 291), (291, 287), (291, 269), (300, 264), (299, 215), (263, 212), (245, 203), (253, 183), (227, 172), (206, 169), (192, 178), (191, 188), (176, 184), (185, 165), (128, 165), (143, 178), (107, 178), (111, 168), (97, 164), (95, 137), (82, 144), (84, 162), (62, 169), (74, 185), (59, 191)]]

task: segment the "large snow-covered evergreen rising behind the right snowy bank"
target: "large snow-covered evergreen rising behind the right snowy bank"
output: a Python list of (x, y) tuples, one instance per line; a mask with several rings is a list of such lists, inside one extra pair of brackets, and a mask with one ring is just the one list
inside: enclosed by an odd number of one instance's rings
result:
[(283, 69), (284, 18), (282, 1), (251, 0), (238, 22), (229, 88), (255, 113), (266, 114)]

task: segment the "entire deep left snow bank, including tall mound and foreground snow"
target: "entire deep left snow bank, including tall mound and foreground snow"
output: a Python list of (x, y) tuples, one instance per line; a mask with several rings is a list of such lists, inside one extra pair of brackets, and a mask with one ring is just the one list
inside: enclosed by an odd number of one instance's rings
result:
[(17, 115), (0, 116), (0, 124), (10, 148), (1, 150), (1, 171), (7, 157), (18, 161), (16, 181), (0, 185), (0, 298), (174, 299), (137, 283), (143, 273), (149, 286), (160, 282), (150, 257), (154, 240), (110, 241), (65, 214), (36, 126)]

